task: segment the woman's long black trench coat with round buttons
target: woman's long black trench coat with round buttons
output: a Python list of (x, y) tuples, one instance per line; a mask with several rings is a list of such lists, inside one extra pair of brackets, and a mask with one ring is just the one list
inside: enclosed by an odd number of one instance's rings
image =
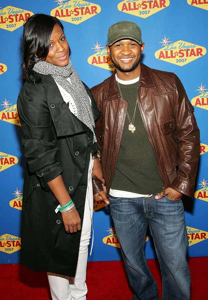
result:
[[(21, 263), (35, 271), (75, 276), (81, 232), (67, 234), (47, 182), (62, 175), (83, 221), (92, 131), (63, 101), (50, 75), (24, 83), (17, 100), (27, 166), (23, 187)], [(99, 111), (89, 88), (94, 119)], [(40, 177), (41, 176), (41, 177)]]

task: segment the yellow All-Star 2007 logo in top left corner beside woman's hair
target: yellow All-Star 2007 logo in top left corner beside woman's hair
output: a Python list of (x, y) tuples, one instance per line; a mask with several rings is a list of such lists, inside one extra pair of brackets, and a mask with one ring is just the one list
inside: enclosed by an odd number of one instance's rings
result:
[(32, 16), (32, 11), (14, 6), (0, 7), (0, 28), (14, 31), (23, 26), (24, 22)]

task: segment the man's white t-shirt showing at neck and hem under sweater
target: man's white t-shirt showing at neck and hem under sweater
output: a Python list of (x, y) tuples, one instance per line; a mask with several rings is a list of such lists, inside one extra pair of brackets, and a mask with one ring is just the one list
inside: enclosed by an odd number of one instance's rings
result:
[[(139, 77), (136, 77), (131, 80), (121, 80), (118, 78), (117, 74), (115, 74), (115, 79), (116, 79), (116, 81), (118, 81), (118, 83), (126, 84), (126, 85), (133, 84), (133, 83), (136, 83), (137, 81), (139, 81)], [(143, 194), (139, 194), (139, 193), (132, 193), (132, 192), (124, 191), (124, 190), (113, 190), (112, 188), (110, 189), (109, 194), (113, 197), (121, 197), (121, 198), (140, 198), (140, 197), (150, 196), (150, 195), (143, 195)]]

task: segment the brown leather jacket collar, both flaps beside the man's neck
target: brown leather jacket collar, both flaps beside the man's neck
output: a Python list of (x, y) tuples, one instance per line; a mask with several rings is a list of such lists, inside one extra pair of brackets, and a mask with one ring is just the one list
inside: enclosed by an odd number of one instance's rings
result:
[[(141, 73), (140, 73), (140, 78), (139, 78), (139, 86), (146, 87), (146, 88), (155, 87), (156, 84), (155, 84), (152, 74), (150, 72), (150, 68), (147, 67), (142, 62), (140, 63), (140, 66), (141, 66)], [(115, 80), (115, 74), (116, 74), (116, 70), (109, 77), (109, 85), (108, 85), (107, 93), (106, 93), (106, 101), (113, 100), (113, 99), (120, 97), (120, 94), (119, 94), (118, 88), (117, 88), (117, 83)]]

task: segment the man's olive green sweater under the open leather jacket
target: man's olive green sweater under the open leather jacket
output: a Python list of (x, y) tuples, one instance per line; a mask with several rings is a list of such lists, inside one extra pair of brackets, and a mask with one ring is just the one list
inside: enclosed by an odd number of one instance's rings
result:
[[(128, 85), (119, 83), (122, 97), (128, 104), (130, 120), (136, 105), (138, 85), (139, 82)], [(163, 184), (138, 105), (136, 105), (134, 126), (136, 131), (132, 133), (129, 131), (129, 120), (126, 116), (111, 188), (139, 194), (160, 193)]]

